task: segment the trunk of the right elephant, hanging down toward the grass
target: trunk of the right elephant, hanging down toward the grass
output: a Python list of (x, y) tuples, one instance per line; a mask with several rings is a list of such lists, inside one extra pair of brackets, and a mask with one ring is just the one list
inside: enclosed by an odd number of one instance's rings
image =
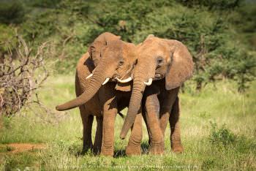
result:
[[(154, 77), (153, 75), (156, 67), (157, 66), (153, 64), (151, 65), (151, 67), (148, 68), (147, 63), (144, 62), (143, 65), (138, 64), (138, 67), (136, 68), (136, 72), (133, 80), (133, 86), (132, 86), (132, 96), (129, 101), (128, 113), (127, 113), (127, 117), (125, 118), (124, 125), (121, 129), (121, 134), (120, 134), (120, 138), (122, 140), (127, 136), (129, 129), (132, 127), (132, 124), (135, 122), (136, 115), (140, 110), (140, 104), (143, 98), (143, 92), (146, 88), (145, 81), (150, 80), (152, 77)], [(149, 77), (147, 76), (148, 74), (150, 75)]]

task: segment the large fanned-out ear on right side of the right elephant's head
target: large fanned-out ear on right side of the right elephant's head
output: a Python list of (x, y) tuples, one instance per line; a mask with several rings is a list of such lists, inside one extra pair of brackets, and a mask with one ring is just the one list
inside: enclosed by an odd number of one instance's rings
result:
[(166, 40), (170, 46), (170, 66), (165, 75), (167, 90), (181, 86), (184, 81), (192, 77), (194, 64), (192, 56), (185, 45), (176, 40)]

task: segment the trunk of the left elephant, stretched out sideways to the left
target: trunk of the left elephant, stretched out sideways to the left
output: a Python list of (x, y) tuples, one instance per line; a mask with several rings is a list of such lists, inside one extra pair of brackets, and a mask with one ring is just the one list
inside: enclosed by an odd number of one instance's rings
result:
[(91, 77), (89, 86), (86, 88), (86, 91), (84, 91), (83, 94), (69, 102), (58, 105), (56, 110), (69, 110), (88, 102), (94, 96), (94, 94), (97, 93), (99, 88), (102, 86), (102, 83), (104, 83), (106, 80), (107, 73), (105, 72), (105, 67), (103, 64), (104, 63), (102, 62), (97, 66), (96, 69), (94, 69), (94, 75)]

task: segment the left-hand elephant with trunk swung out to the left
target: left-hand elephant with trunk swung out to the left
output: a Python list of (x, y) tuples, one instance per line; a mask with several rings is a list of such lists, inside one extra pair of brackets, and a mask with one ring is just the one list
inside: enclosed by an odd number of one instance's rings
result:
[[(58, 105), (56, 110), (79, 107), (83, 121), (83, 151), (92, 148), (94, 153), (113, 156), (114, 122), (116, 113), (129, 104), (131, 88), (128, 82), (131, 78), (128, 76), (135, 65), (135, 57), (135, 45), (105, 32), (94, 40), (89, 51), (78, 61), (75, 75), (77, 97)], [(97, 131), (92, 145), (94, 116), (97, 118)], [(138, 114), (132, 126), (127, 155), (140, 154), (141, 120), (142, 116)]]

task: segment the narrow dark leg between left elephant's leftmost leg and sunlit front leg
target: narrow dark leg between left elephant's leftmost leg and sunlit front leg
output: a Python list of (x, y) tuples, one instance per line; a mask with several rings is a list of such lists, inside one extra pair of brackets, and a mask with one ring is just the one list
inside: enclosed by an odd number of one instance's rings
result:
[(102, 121), (103, 117), (102, 116), (97, 116), (97, 129), (96, 129), (96, 135), (95, 135), (95, 140), (94, 140), (94, 154), (97, 155), (100, 153), (101, 148), (102, 148)]

